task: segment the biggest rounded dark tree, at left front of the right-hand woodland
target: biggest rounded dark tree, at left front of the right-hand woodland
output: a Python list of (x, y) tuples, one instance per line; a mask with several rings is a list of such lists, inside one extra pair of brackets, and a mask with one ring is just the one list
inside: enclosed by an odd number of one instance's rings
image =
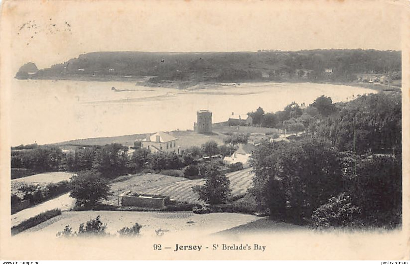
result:
[(253, 152), (251, 163), (255, 177), (250, 191), (274, 218), (310, 218), (342, 186), (337, 152), (321, 139), (264, 143)]

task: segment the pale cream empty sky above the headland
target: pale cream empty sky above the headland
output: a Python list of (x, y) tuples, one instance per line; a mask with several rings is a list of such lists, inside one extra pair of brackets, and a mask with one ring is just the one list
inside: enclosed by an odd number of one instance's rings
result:
[(14, 73), (94, 51), (401, 50), (394, 1), (3, 2)]

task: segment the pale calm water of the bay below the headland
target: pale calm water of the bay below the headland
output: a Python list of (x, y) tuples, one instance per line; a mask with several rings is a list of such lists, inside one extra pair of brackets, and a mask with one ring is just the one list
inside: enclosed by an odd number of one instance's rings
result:
[[(209, 109), (212, 121), (261, 106), (278, 111), (292, 101), (312, 103), (320, 95), (352, 100), (371, 89), (312, 83), (241, 83), (196, 90), (149, 88), (135, 82), (13, 80), (11, 144), (56, 143), (92, 137), (192, 129), (196, 111)], [(115, 92), (118, 90), (132, 90)]]

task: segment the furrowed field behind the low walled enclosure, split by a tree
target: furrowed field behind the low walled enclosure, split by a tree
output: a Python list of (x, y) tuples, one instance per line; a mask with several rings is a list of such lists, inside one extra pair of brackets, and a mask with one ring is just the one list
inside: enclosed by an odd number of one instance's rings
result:
[[(232, 195), (239, 195), (246, 193), (246, 190), (251, 186), (253, 173), (251, 168), (248, 168), (228, 173), (226, 176), (230, 180)], [(168, 195), (171, 199), (178, 201), (198, 203), (200, 202), (198, 195), (192, 191), (192, 187), (203, 183), (203, 179), (189, 180), (160, 174), (135, 175), (125, 181), (112, 183), (111, 190), (114, 192), (114, 196), (108, 200), (108, 203), (117, 205), (118, 195), (126, 190)]]

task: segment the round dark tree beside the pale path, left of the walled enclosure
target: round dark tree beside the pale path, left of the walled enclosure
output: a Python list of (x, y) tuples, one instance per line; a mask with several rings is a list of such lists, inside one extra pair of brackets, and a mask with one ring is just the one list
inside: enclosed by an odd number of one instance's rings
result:
[(83, 171), (70, 179), (70, 197), (76, 199), (77, 206), (94, 206), (101, 199), (112, 195), (108, 181), (95, 171)]

